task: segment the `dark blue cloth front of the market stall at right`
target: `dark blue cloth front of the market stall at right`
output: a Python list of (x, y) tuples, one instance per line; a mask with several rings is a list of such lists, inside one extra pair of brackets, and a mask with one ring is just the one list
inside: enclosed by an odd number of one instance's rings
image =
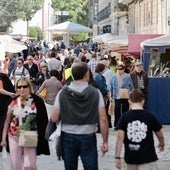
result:
[(149, 77), (148, 110), (162, 124), (170, 124), (170, 78)]

